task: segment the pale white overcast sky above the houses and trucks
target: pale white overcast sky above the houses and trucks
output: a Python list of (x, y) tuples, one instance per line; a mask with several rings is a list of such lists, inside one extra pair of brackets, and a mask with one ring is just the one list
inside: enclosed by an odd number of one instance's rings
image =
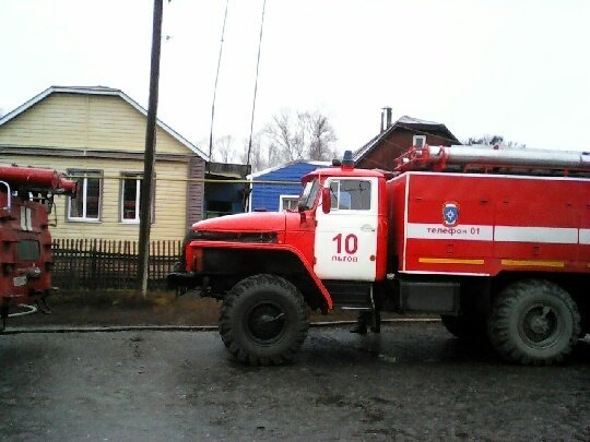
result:
[[(206, 151), (225, 0), (165, 0), (158, 118)], [(214, 135), (248, 138), (263, 0), (229, 0)], [(51, 85), (120, 88), (146, 107), (153, 2), (0, 0), (0, 108)], [(590, 1), (267, 0), (255, 130), (319, 110), (338, 148), (380, 108), (459, 139), (590, 151)], [(241, 142), (240, 142), (241, 143)]]

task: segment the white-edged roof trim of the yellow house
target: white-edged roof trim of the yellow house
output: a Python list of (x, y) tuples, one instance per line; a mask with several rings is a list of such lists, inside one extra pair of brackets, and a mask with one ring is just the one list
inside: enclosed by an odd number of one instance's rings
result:
[[(7, 114), (2, 118), (0, 118), (0, 127), (2, 124), (5, 124), (13, 118), (16, 118), (31, 107), (35, 106), (40, 100), (47, 98), (49, 95), (54, 93), (66, 93), (66, 94), (81, 94), (81, 95), (108, 95), (108, 96), (115, 96), (120, 97), (123, 100), (126, 100), (128, 104), (133, 106), (138, 111), (143, 114), (143, 116), (148, 117), (148, 110), (145, 110), (142, 106), (140, 106), (134, 99), (132, 99), (129, 95), (123, 93), (120, 89), (115, 89), (113, 87), (106, 87), (106, 86), (50, 86), (40, 94), (34, 96), (28, 101), (22, 104), (16, 109), (12, 110), (11, 112)], [(157, 120), (157, 126), (167, 132), (170, 136), (173, 136), (176, 141), (184, 144), (187, 148), (192, 151), (194, 154), (199, 155), (201, 158), (209, 160), (209, 155), (206, 155), (203, 151), (201, 151), (199, 147), (197, 147), (194, 144), (192, 144), (190, 141), (185, 139), (182, 135), (180, 135), (178, 132), (176, 132), (174, 129), (172, 129), (169, 126)]]

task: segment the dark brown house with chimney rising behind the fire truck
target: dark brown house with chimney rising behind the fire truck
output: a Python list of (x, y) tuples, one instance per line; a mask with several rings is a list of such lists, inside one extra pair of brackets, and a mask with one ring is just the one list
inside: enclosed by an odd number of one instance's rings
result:
[(354, 153), (356, 167), (392, 170), (394, 160), (412, 146), (461, 144), (442, 123), (403, 116), (391, 122), (391, 108), (381, 112), (381, 131)]

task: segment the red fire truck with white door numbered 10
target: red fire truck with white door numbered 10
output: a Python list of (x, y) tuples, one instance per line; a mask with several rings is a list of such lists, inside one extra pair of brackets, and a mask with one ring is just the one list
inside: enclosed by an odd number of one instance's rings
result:
[(223, 300), (240, 361), (294, 358), (308, 310), (436, 313), (524, 365), (563, 361), (590, 322), (590, 154), (408, 151), (391, 172), (350, 152), (303, 178), (298, 211), (202, 220), (173, 286)]

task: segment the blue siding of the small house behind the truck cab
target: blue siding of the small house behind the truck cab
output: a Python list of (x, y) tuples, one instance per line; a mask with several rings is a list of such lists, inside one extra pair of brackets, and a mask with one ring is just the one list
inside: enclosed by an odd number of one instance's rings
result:
[[(300, 183), (303, 176), (316, 170), (318, 165), (309, 163), (295, 163), (276, 170), (255, 177), (255, 181), (288, 181)], [(280, 208), (281, 195), (298, 195), (300, 184), (252, 184), (251, 208), (253, 211), (276, 212)]]

